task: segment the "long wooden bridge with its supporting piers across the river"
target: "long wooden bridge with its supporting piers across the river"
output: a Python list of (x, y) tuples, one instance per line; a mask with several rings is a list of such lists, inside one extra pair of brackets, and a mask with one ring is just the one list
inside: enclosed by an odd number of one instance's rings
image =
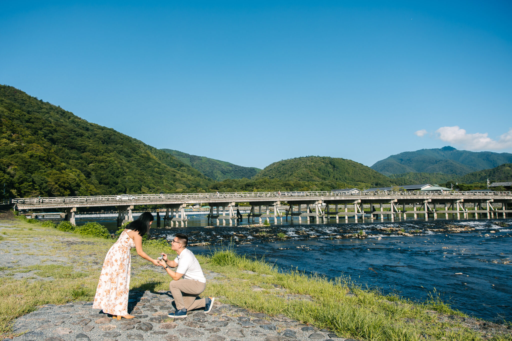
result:
[[(288, 210), (280, 210), (281, 201), (289, 204)], [(63, 209), (66, 219), (75, 223), (75, 212), (79, 207), (116, 207), (118, 210), (118, 223), (132, 221), (132, 210), (135, 205), (158, 205), (165, 208), (164, 221), (173, 226), (178, 223), (186, 225), (184, 208), (189, 204), (207, 202), (210, 206), (209, 219), (216, 219), (217, 223), (226, 220), (232, 223), (237, 221), (233, 207), (238, 202), (249, 202), (251, 210), (249, 217), (288, 220), (288, 215), (296, 216), (298, 221), (315, 219), (316, 223), (328, 222), (331, 218), (339, 221), (344, 217), (348, 221), (353, 216), (355, 221), (387, 215), (392, 220), (406, 218), (412, 215), (424, 219), (432, 216), (434, 219), (442, 217), (460, 219), (473, 215), (478, 219), (484, 215), (486, 218), (496, 218), (498, 215), (506, 217), (512, 213), (509, 204), (512, 202), (512, 192), (456, 192), (456, 191), (375, 191), (375, 192), (234, 192), (234, 193), (184, 193), (184, 194), (137, 194), (137, 195), (101, 195), (101, 196), (75, 196), (75, 197), (46, 197), (46, 198), (16, 198), (12, 199), (17, 210), (46, 210)], [(501, 204), (501, 209), (493, 208), (492, 204)], [(369, 204), (370, 210), (365, 211), (364, 205)], [(383, 204), (389, 204), (390, 211), (383, 211)], [(322, 210), (323, 205), (326, 205)], [(378, 207), (376, 207), (378, 205)], [(407, 206), (413, 210), (406, 211)], [(400, 209), (401, 206), (401, 209)], [(303, 207), (305, 211), (303, 212)], [(222, 214), (220, 214), (222, 208)], [(331, 211), (333, 209), (334, 211)], [(351, 212), (349, 212), (351, 209)], [(352, 211), (353, 210), (353, 211)]]

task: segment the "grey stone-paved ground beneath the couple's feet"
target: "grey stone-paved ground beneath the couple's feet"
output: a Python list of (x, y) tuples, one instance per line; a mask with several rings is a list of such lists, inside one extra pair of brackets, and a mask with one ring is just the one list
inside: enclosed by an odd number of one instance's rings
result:
[(14, 332), (24, 334), (12, 340), (352, 341), (284, 315), (270, 317), (218, 302), (208, 314), (197, 310), (189, 312), (186, 319), (168, 319), (167, 313), (175, 310), (173, 303), (167, 292), (131, 291), (128, 310), (136, 318), (121, 321), (92, 309), (92, 302), (48, 304), (16, 319)]

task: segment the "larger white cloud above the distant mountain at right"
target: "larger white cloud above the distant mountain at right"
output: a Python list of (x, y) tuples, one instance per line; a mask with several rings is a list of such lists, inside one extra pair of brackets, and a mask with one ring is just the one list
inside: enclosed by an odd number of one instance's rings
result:
[[(500, 135), (498, 140), (493, 140), (487, 133), (476, 132), (468, 134), (465, 129), (459, 126), (441, 127), (436, 130), (439, 140), (459, 145), (470, 150), (500, 150), (512, 148), (512, 128)], [(419, 135), (418, 135), (419, 136)]]

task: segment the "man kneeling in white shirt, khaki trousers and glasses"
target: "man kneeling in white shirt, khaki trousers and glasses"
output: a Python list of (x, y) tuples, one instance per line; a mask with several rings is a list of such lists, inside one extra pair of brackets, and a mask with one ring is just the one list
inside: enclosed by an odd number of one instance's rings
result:
[[(187, 235), (177, 233), (174, 240), (171, 241), (171, 248), (178, 253), (178, 257), (172, 261), (162, 253), (162, 260), (159, 262), (174, 280), (169, 283), (169, 289), (173, 294), (176, 311), (168, 314), (174, 319), (187, 317), (187, 310), (202, 307), (205, 312), (210, 312), (215, 301), (214, 297), (197, 300), (198, 295), (206, 288), (206, 279), (196, 256), (186, 248), (187, 242)], [(175, 272), (170, 267), (178, 268)]]

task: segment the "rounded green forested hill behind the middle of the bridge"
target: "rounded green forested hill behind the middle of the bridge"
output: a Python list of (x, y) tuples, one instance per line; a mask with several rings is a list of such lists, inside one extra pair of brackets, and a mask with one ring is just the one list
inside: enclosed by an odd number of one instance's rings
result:
[[(274, 162), (255, 179), (267, 177), (282, 181), (338, 181), (359, 187), (392, 186), (393, 181), (369, 167), (345, 158), (306, 156)], [(367, 187), (368, 188), (368, 187)]]

